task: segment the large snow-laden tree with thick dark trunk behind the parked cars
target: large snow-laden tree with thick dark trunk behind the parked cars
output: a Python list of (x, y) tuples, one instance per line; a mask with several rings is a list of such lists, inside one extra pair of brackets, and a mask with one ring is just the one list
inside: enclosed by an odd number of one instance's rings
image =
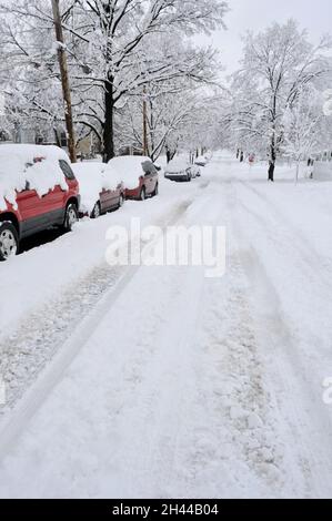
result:
[[(129, 95), (175, 78), (203, 79), (211, 51), (198, 51), (184, 40), (222, 25), (227, 11), (222, 0), (63, 0), (61, 6), (76, 119), (98, 135), (105, 160), (114, 155), (117, 111)], [(52, 47), (47, 45), (53, 31), (48, 2), (7, 0), (0, 2), (0, 12), (3, 63), (11, 55), (11, 67), (21, 68), (26, 81), (28, 69), (40, 71), (40, 81), (59, 79)], [(163, 35), (164, 48), (158, 45), (160, 52), (151, 57), (149, 42), (158, 35)], [(179, 37), (180, 48), (171, 44)]]

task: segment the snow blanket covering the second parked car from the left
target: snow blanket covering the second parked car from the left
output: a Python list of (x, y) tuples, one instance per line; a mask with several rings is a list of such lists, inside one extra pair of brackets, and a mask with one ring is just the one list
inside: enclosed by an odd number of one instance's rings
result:
[(120, 174), (104, 163), (77, 163), (72, 165), (74, 175), (80, 183), (81, 210), (92, 213), (100, 194), (104, 190), (117, 190), (121, 184)]

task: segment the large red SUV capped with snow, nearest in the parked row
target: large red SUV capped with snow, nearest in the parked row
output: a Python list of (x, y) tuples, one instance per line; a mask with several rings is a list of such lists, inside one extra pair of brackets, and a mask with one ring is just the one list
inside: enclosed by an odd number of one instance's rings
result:
[(79, 183), (57, 146), (0, 145), (0, 260), (22, 238), (78, 221)]

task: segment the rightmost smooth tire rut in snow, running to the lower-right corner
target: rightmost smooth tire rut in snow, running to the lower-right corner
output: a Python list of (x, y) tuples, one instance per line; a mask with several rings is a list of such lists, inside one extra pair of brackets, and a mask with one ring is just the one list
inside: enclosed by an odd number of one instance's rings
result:
[[(308, 498), (330, 496), (332, 453), (329, 415), (325, 418), (320, 416), (322, 403), (314, 397), (310, 380), (301, 379), (303, 360), (299, 346), (283, 320), (278, 295), (264, 267), (254, 251), (248, 251), (245, 257), (244, 260), (242, 255), (242, 263), (252, 283), (252, 304), (256, 307), (259, 324), (258, 338), (270, 366), (265, 375), (266, 384), (271, 394), (273, 392), (275, 412), (279, 411), (275, 431), (282, 440), (293, 474), (290, 476), (293, 492), (288, 492)], [(292, 445), (288, 446), (290, 440)]]

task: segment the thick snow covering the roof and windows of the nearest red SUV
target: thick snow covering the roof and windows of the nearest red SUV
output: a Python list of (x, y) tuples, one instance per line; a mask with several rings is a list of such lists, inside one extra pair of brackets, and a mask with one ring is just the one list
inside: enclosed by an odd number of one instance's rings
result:
[(68, 155), (57, 146), (1, 145), (0, 146), (0, 211), (7, 203), (16, 207), (17, 192), (36, 190), (42, 197), (59, 185), (68, 190), (59, 160), (70, 163)]

